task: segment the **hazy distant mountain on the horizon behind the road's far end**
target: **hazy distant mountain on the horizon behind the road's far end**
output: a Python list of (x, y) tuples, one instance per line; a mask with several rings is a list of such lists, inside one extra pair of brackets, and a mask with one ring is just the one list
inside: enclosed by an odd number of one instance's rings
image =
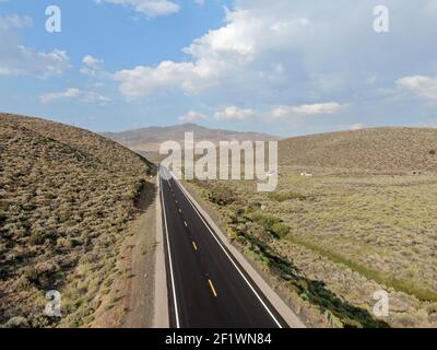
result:
[(184, 144), (186, 132), (193, 132), (196, 141), (208, 140), (215, 144), (218, 144), (220, 141), (274, 141), (280, 139), (267, 133), (209, 129), (196, 124), (104, 132), (103, 136), (134, 151), (158, 152), (161, 144), (168, 140)]

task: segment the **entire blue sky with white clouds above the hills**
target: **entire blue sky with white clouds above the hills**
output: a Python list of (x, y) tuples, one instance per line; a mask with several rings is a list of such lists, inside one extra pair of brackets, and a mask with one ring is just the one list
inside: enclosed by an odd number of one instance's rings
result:
[(436, 127), (436, 33), (437, 0), (0, 0), (0, 110), (94, 131)]

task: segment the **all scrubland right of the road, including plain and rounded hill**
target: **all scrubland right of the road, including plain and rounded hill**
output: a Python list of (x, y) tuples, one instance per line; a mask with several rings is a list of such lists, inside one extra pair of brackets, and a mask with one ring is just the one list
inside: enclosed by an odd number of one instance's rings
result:
[[(435, 140), (437, 130), (406, 128), (290, 139), (275, 192), (190, 187), (310, 325), (436, 327)], [(389, 317), (373, 313), (379, 290)]]

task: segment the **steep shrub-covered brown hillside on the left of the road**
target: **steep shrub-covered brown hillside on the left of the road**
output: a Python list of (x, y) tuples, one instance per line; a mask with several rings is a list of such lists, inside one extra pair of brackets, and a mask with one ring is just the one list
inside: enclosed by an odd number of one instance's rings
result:
[[(0, 115), (0, 325), (93, 320), (151, 171), (95, 133)], [(49, 290), (61, 319), (44, 316)]]

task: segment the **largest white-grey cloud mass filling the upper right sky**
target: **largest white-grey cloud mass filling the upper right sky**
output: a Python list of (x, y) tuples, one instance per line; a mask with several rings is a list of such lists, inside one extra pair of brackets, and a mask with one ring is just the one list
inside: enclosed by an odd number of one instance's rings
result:
[[(386, 103), (378, 91), (392, 74), (405, 75), (412, 65), (435, 70), (432, 3), (435, 0), (391, 1), (397, 21), (390, 35), (381, 36), (373, 31), (374, 8), (366, 1), (235, 0), (221, 27), (182, 49), (185, 60), (168, 57), (120, 70), (114, 78), (127, 97), (182, 92), (215, 105), (259, 110), (279, 106), (274, 114), (302, 120), (327, 115), (327, 125), (339, 106), (299, 106), (300, 101), (353, 101), (355, 117), (367, 124), (370, 116), (364, 108)], [(412, 27), (412, 22), (417, 25)], [(381, 115), (392, 112), (388, 108), (395, 107), (385, 105)]]

